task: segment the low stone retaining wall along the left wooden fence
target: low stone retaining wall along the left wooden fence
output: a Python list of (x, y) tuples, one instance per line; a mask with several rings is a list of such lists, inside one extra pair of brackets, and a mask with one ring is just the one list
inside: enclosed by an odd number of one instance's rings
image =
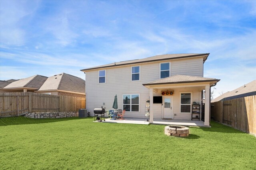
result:
[(42, 119), (42, 118), (63, 118), (63, 117), (78, 117), (78, 111), (74, 112), (36, 112), (26, 113), (25, 117)]

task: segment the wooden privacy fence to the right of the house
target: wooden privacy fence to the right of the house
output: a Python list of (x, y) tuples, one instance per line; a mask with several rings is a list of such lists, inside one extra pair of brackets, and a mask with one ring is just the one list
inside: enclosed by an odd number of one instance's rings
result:
[(256, 96), (247, 96), (212, 103), (214, 121), (256, 135)]

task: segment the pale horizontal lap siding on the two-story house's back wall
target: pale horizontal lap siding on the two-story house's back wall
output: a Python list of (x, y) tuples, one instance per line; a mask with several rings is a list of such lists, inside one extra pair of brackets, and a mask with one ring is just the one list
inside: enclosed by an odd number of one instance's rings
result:
[[(180, 61), (170, 60), (99, 69), (106, 70), (106, 83), (99, 83), (99, 70), (86, 71), (86, 108), (90, 111), (90, 115), (94, 115), (94, 108), (103, 107), (106, 111), (113, 109), (112, 104), (115, 94), (117, 94), (118, 98), (118, 109), (123, 109), (123, 94), (139, 94), (139, 111), (126, 112), (125, 117), (144, 118), (145, 101), (149, 98), (149, 89), (142, 84), (160, 79), (160, 63), (166, 62), (170, 62), (170, 76), (176, 74), (202, 76), (202, 57), (183, 59)], [(131, 80), (131, 66), (140, 66), (139, 81)], [(154, 94), (154, 96), (156, 95), (157, 94)], [(103, 103), (105, 103), (105, 105), (103, 105)], [(179, 108), (179, 106), (176, 106), (177, 103), (174, 105)], [(162, 116), (161, 104), (156, 104), (153, 108), (154, 118), (160, 119)], [(178, 115), (177, 117), (188, 119), (188, 115)]]

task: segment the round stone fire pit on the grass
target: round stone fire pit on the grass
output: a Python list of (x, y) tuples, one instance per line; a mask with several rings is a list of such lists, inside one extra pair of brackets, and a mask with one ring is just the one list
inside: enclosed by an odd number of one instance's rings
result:
[(185, 126), (166, 126), (164, 133), (169, 136), (187, 137), (189, 135), (189, 128)]

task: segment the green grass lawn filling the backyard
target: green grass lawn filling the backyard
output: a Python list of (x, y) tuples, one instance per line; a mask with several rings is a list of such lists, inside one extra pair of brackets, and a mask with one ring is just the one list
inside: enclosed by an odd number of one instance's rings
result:
[(211, 122), (187, 138), (164, 125), (0, 118), (0, 169), (256, 169), (256, 137)]

